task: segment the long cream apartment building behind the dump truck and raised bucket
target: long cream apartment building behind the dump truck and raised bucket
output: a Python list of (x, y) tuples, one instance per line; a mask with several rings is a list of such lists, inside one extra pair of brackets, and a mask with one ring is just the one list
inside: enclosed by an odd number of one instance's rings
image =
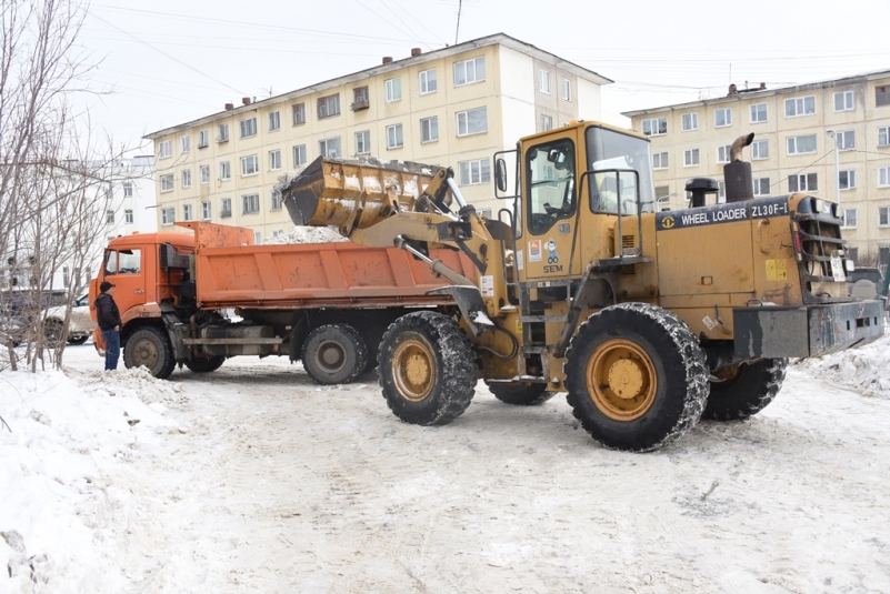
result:
[(211, 221), (254, 230), (259, 242), (292, 228), (271, 190), (326, 157), (450, 165), (464, 198), (489, 214), (492, 154), (530, 133), (599, 119), (596, 72), (504, 34), (312, 84), (160, 130), (158, 223)]

